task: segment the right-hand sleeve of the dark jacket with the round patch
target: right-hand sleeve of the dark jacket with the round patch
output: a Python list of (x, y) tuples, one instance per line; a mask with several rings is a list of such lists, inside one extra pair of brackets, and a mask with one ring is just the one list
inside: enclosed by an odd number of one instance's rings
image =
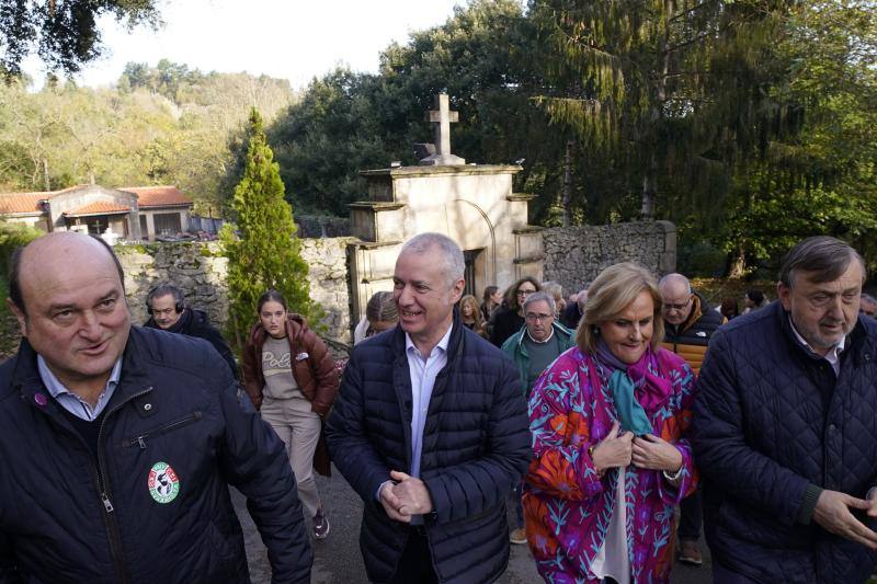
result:
[(310, 582), (312, 556), (286, 449), (259, 414), (237, 401), (238, 386), (230, 373), (223, 381), (219, 401), (226, 432), (217, 453), (223, 474), (247, 497), (267, 548), (272, 583)]

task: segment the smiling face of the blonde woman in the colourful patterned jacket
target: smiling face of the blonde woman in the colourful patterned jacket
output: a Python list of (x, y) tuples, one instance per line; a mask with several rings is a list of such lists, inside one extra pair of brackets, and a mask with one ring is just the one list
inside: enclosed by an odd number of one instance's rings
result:
[(654, 327), (654, 302), (642, 290), (613, 319), (597, 324), (600, 336), (622, 363), (633, 365), (646, 352)]

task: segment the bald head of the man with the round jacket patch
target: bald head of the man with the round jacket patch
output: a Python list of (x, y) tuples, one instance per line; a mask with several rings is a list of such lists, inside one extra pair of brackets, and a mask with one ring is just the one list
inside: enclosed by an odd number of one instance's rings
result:
[(87, 236), (44, 236), (22, 252), (20, 274), (24, 307), (8, 304), (31, 346), (71, 391), (102, 391), (130, 331), (107, 250)]

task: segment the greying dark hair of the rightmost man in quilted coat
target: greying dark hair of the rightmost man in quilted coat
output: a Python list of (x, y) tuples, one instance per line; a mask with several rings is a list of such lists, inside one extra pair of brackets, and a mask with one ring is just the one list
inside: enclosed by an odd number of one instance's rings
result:
[(783, 259), (779, 282), (791, 288), (798, 272), (812, 274), (816, 283), (833, 282), (850, 267), (852, 261), (862, 266), (862, 282), (867, 278), (865, 261), (845, 241), (829, 236), (807, 238), (791, 248)]

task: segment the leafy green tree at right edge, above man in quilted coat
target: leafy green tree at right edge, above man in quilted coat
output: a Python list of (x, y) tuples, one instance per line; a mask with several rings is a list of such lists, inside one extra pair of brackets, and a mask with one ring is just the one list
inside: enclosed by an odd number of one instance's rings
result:
[(850, 240), (877, 259), (877, 14), (866, 0), (818, 0), (790, 11), (765, 62), (773, 92), (797, 104), (799, 130), (741, 164), (713, 241), (739, 276), (812, 234)]

